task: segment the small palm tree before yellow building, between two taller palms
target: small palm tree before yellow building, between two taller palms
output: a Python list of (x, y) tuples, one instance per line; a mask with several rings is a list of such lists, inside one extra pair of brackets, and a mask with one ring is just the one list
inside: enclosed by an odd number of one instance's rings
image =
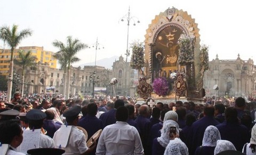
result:
[(22, 74), (21, 74), (21, 96), (23, 96), (24, 92), (24, 74), (25, 74), (25, 68), (27, 67), (36, 67), (35, 61), (37, 60), (36, 56), (33, 56), (31, 51), (25, 51), (20, 50), (18, 51), (19, 58), (14, 59), (14, 63), (22, 67)]

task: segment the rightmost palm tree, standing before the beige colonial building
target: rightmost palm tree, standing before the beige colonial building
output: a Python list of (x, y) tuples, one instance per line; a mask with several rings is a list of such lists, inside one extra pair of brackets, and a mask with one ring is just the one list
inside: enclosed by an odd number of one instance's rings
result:
[(86, 44), (83, 44), (78, 39), (74, 39), (71, 36), (67, 37), (67, 45), (64, 45), (63, 42), (55, 40), (52, 42), (52, 45), (59, 48), (60, 51), (58, 51), (55, 54), (55, 58), (59, 60), (62, 67), (64, 68), (64, 71), (66, 70), (66, 67), (68, 67), (68, 78), (67, 78), (67, 96), (66, 96), (66, 73), (64, 73), (63, 78), (63, 84), (64, 84), (64, 92), (63, 96), (65, 98), (69, 98), (69, 88), (70, 88), (70, 65), (80, 61), (80, 58), (76, 56), (78, 51), (87, 48), (88, 46)]

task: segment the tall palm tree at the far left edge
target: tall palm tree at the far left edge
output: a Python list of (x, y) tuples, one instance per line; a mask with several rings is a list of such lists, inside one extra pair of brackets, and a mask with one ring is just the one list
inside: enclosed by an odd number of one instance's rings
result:
[[(31, 36), (32, 31), (30, 29), (24, 29), (18, 32), (18, 25), (13, 25), (12, 28), (3, 26), (0, 28), (0, 39), (7, 42), (7, 45), (11, 47), (11, 60), (10, 60), (10, 75), (13, 78), (13, 51), (20, 44), (22, 39)], [(8, 83), (7, 100), (11, 101), (12, 94), (12, 82)]]

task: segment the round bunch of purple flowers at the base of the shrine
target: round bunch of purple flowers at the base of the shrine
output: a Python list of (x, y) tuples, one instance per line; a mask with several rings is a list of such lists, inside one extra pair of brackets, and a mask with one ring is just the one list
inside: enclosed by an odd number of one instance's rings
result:
[(165, 96), (169, 93), (169, 83), (165, 77), (158, 77), (153, 82), (153, 89), (159, 96)]

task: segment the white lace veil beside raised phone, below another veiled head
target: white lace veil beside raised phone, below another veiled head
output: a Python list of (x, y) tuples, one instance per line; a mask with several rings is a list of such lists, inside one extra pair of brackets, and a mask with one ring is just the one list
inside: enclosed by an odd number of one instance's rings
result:
[(176, 127), (176, 133), (179, 134), (179, 125), (174, 120), (166, 120), (163, 124), (163, 128), (161, 129), (161, 136), (157, 138), (157, 141), (160, 145), (162, 145), (164, 148), (167, 147), (167, 145), (170, 142), (170, 127)]

